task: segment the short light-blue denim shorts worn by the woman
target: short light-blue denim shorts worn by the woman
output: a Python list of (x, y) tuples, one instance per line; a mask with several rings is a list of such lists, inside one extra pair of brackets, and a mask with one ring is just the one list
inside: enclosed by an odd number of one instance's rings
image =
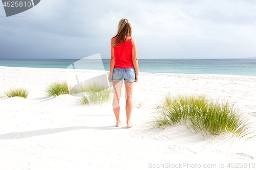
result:
[(124, 82), (134, 82), (135, 81), (135, 69), (133, 68), (114, 68), (113, 70), (113, 81), (124, 80)]

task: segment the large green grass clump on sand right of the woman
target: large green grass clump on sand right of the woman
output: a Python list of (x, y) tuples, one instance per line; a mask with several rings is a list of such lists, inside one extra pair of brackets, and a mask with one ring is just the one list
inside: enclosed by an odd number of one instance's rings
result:
[(154, 122), (159, 127), (183, 123), (206, 136), (231, 134), (241, 138), (250, 134), (250, 124), (234, 104), (214, 102), (205, 95), (172, 97), (168, 93), (157, 110)]

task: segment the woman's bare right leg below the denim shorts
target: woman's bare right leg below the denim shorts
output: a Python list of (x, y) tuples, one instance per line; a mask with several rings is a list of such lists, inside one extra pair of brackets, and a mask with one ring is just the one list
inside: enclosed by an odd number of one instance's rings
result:
[(134, 82), (124, 82), (125, 85), (125, 111), (126, 111), (126, 124), (127, 128), (131, 128), (134, 125), (131, 124), (131, 115), (133, 110), (133, 84)]

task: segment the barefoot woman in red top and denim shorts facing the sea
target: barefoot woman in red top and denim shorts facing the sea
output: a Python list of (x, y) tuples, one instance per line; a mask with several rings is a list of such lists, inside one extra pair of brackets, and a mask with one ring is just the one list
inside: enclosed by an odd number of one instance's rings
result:
[(135, 39), (132, 38), (132, 26), (128, 19), (122, 18), (118, 24), (116, 36), (111, 39), (111, 60), (109, 81), (113, 81), (113, 111), (116, 116), (116, 127), (122, 123), (119, 118), (119, 100), (124, 80), (125, 85), (125, 111), (127, 128), (131, 124), (133, 109), (133, 84), (138, 82), (139, 64), (137, 59), (137, 49)]

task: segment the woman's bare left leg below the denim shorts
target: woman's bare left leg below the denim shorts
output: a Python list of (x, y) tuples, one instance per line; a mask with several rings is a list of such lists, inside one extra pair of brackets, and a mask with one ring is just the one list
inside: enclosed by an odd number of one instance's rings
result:
[(120, 106), (119, 101), (121, 98), (121, 89), (122, 89), (123, 80), (113, 81), (113, 111), (116, 116), (116, 127), (119, 127), (122, 123), (120, 120)]

